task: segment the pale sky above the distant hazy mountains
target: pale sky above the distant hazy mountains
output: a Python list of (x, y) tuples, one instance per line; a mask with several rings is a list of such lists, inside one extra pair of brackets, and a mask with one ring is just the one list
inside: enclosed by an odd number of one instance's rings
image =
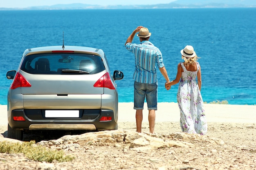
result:
[(0, 8), (25, 8), (34, 6), (51, 6), (54, 4), (99, 4), (99, 5), (141, 5), (168, 4), (175, 0), (0, 0)]

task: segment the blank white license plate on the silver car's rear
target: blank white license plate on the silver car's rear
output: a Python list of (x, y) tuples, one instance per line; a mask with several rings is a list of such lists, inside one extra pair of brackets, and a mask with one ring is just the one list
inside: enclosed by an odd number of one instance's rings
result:
[(79, 117), (79, 110), (45, 110), (45, 117)]

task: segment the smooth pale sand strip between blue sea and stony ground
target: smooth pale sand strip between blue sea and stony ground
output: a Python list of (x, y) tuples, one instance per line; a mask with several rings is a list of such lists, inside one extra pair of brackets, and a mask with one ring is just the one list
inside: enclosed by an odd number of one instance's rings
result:
[[(256, 105), (204, 104), (207, 122), (256, 123)], [(180, 110), (175, 102), (157, 104), (155, 122), (179, 122)], [(144, 103), (143, 122), (148, 122), (147, 104)], [(0, 125), (7, 125), (7, 105), (0, 105)], [(118, 122), (135, 122), (133, 102), (119, 102)]]

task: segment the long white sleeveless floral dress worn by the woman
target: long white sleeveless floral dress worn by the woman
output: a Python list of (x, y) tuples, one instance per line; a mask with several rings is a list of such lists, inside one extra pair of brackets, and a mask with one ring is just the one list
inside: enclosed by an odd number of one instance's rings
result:
[(180, 64), (183, 72), (177, 93), (177, 102), (180, 108), (182, 132), (205, 135), (207, 133), (207, 121), (202, 96), (196, 81), (200, 65), (196, 62), (197, 71), (187, 71), (184, 63)]

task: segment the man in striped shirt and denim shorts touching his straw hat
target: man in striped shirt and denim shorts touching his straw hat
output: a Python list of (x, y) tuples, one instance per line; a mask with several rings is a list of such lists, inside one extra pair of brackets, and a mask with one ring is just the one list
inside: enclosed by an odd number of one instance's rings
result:
[[(135, 34), (139, 37), (140, 44), (132, 44)], [(151, 33), (147, 28), (138, 26), (126, 40), (126, 49), (135, 55), (135, 71), (133, 74), (134, 82), (134, 109), (136, 110), (137, 132), (141, 133), (143, 119), (144, 100), (148, 104), (149, 131), (154, 133), (155, 129), (155, 110), (157, 110), (157, 70), (170, 82), (166, 68), (164, 67), (161, 51), (149, 42)], [(170, 88), (167, 87), (167, 90)]]

